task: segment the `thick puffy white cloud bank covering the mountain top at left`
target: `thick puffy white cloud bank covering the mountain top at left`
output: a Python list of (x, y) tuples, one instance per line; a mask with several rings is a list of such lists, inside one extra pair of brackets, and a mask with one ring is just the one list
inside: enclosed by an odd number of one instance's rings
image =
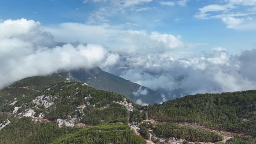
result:
[(29, 76), (93, 68), (105, 59), (102, 46), (58, 46), (33, 20), (6, 20), (0, 23), (0, 31), (0, 88)]

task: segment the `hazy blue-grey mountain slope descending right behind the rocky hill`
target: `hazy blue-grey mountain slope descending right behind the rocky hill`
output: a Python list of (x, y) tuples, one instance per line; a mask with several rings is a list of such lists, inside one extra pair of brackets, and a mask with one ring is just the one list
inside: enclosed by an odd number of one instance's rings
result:
[(94, 88), (120, 93), (135, 102), (141, 100), (146, 104), (154, 104), (162, 101), (160, 92), (102, 71), (99, 67), (91, 70), (73, 70), (67, 75), (70, 79), (78, 79)]

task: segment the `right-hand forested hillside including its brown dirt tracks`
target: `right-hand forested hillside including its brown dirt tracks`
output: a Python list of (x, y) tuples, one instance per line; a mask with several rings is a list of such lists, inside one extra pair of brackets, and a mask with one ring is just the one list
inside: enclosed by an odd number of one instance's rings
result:
[(148, 118), (154, 121), (151, 128), (160, 137), (189, 141), (217, 140), (217, 137), (211, 140), (209, 136), (203, 136), (206, 132), (197, 132), (202, 129), (235, 137), (237, 141), (233, 139), (234, 143), (230, 144), (256, 142), (256, 90), (188, 95), (163, 104), (144, 106), (141, 110), (148, 112)]

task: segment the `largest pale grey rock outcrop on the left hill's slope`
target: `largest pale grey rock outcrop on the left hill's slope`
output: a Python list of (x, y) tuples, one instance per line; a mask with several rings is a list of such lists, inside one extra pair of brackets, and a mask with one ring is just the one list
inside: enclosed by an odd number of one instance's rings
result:
[(54, 99), (55, 96), (45, 96), (45, 95), (40, 95), (36, 97), (32, 102), (36, 104), (36, 106), (44, 106), (45, 108), (49, 108), (51, 105), (54, 104)]

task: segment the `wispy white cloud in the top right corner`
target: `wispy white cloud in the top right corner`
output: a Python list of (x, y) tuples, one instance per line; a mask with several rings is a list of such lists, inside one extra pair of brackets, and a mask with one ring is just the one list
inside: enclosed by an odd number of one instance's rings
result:
[(256, 29), (255, 0), (225, 0), (225, 2), (204, 6), (194, 16), (197, 19), (221, 19), (226, 24), (226, 28), (230, 29)]

